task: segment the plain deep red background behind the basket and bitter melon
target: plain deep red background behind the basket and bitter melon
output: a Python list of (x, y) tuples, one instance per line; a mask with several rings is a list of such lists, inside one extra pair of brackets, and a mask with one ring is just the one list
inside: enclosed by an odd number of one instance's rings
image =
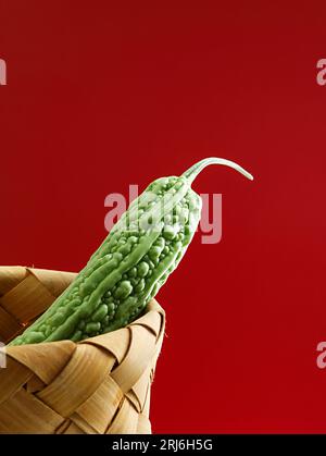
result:
[(109, 193), (200, 158), (223, 238), (197, 235), (167, 312), (154, 432), (325, 431), (326, 3), (0, 0), (1, 263), (79, 270)]

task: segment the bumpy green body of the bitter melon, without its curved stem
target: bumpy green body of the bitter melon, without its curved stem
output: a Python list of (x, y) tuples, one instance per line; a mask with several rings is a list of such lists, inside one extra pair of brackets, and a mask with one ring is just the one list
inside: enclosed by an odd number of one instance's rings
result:
[(70, 287), (11, 344), (77, 342), (135, 320), (179, 263), (200, 211), (201, 198), (185, 177), (154, 181)]

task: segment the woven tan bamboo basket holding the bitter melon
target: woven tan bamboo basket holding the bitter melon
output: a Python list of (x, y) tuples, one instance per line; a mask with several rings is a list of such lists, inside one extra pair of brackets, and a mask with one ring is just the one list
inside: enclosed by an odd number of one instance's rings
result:
[[(0, 267), (0, 341), (10, 342), (37, 319), (75, 275)], [(164, 324), (164, 311), (152, 300), (138, 320), (108, 334), (5, 347), (0, 433), (150, 433), (150, 387)]]

